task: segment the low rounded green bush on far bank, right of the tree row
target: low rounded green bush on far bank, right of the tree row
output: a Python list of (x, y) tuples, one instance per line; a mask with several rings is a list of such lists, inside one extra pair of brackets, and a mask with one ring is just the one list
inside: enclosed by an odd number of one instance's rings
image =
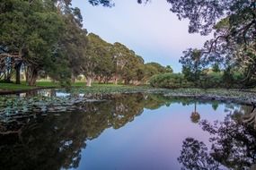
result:
[(155, 88), (177, 89), (193, 87), (193, 84), (186, 81), (181, 73), (157, 74), (150, 79), (149, 83)]

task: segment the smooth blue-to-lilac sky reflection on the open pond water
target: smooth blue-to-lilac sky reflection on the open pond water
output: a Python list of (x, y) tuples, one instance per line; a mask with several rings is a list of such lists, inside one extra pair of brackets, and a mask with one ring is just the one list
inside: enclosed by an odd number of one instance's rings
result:
[[(194, 106), (173, 104), (143, 114), (120, 128), (104, 131), (87, 142), (78, 169), (180, 169), (182, 140), (193, 137), (208, 143), (209, 135), (191, 123)], [(199, 105), (201, 119), (224, 120), (225, 105)]]

